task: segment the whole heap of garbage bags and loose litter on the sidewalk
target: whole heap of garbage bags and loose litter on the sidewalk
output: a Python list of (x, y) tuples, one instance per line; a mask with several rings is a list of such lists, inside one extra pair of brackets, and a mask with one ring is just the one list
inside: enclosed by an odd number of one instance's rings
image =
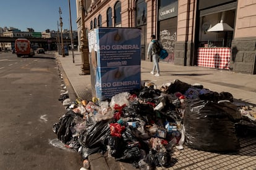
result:
[(87, 163), (88, 155), (108, 152), (140, 169), (171, 166), (171, 150), (184, 144), (208, 152), (239, 150), (235, 124), (243, 115), (232, 94), (177, 79), (160, 88), (144, 85), (105, 101), (71, 102), (62, 93), (67, 112), (53, 125), (54, 133)]

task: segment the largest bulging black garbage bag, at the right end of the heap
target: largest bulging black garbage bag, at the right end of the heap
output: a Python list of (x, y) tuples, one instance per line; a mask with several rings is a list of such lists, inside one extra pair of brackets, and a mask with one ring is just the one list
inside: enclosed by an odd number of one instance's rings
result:
[[(223, 103), (195, 100), (188, 103), (184, 114), (184, 129), (188, 147), (208, 152), (234, 152), (239, 149), (232, 109)], [(239, 116), (237, 116), (238, 118)]]

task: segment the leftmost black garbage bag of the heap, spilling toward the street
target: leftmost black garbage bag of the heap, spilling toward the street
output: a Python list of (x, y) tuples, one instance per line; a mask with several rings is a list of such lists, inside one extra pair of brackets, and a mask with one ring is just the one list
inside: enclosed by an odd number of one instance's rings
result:
[(59, 123), (53, 125), (53, 132), (57, 134), (58, 139), (64, 142), (64, 144), (72, 140), (72, 129), (75, 126), (75, 119), (77, 117), (82, 118), (82, 115), (69, 110), (59, 118)]

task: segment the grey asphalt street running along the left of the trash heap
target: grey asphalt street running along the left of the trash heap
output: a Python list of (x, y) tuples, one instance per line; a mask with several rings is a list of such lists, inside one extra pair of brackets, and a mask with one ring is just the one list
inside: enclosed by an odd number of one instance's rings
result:
[[(0, 169), (80, 169), (81, 156), (53, 147), (52, 127), (66, 113), (53, 54), (0, 53)], [(56, 143), (55, 143), (56, 144)]]

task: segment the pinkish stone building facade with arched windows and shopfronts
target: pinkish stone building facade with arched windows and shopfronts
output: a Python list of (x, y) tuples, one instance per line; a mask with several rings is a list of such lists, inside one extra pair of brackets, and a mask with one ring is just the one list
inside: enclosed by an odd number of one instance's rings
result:
[[(220, 47), (230, 49), (230, 54), (225, 54), (228, 70), (256, 74), (255, 0), (77, 0), (79, 39), (81, 2), (87, 31), (98, 26), (140, 28), (142, 60), (147, 60), (150, 36), (156, 34), (169, 52), (161, 62), (200, 66), (200, 50)], [(208, 31), (222, 22), (232, 30)], [(214, 61), (215, 68), (221, 65), (219, 55), (215, 54), (220, 62)]]

